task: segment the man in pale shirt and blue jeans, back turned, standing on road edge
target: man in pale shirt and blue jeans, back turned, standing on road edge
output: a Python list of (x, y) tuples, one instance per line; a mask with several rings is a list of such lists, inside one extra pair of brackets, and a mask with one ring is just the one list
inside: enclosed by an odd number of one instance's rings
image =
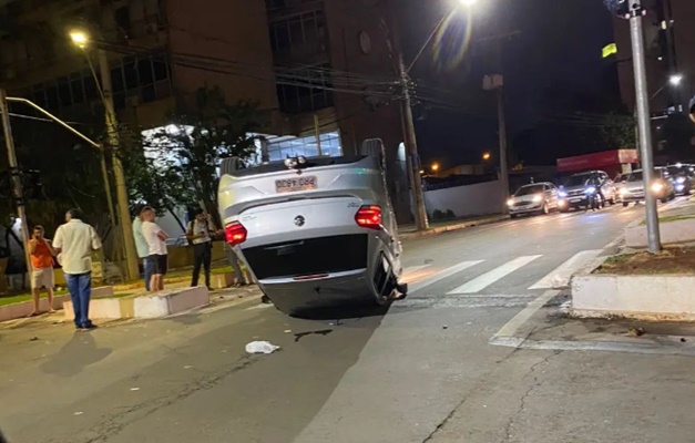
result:
[(101, 240), (94, 228), (82, 222), (79, 209), (70, 209), (65, 222), (55, 230), (53, 249), (65, 275), (74, 323), (79, 330), (90, 330), (95, 328), (90, 320), (92, 253), (101, 248)]

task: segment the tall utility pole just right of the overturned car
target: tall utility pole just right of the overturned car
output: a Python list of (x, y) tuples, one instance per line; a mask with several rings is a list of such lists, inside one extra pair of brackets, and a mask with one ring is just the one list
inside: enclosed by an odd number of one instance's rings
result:
[(403, 64), (403, 56), (399, 54), (400, 81), (402, 86), (402, 100), (400, 102), (403, 119), (403, 132), (406, 137), (406, 152), (408, 153), (407, 164), (409, 165), (408, 176), (415, 204), (415, 223), (418, 230), (429, 229), (427, 209), (425, 207), (425, 192), (422, 189), (422, 177), (420, 177), (420, 156), (418, 155), (418, 141), (415, 135), (415, 123), (412, 121), (412, 109), (410, 103), (410, 89), (408, 87), (408, 73)]

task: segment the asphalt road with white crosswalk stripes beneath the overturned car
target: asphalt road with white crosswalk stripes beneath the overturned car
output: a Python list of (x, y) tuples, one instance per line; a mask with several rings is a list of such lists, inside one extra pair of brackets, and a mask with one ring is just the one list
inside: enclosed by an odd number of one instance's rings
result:
[[(489, 344), (642, 210), (409, 241), (411, 293), (388, 312), (293, 319), (254, 301), (0, 330), (0, 427), (12, 443), (692, 441), (691, 358)], [(282, 348), (248, 357), (252, 340)]]

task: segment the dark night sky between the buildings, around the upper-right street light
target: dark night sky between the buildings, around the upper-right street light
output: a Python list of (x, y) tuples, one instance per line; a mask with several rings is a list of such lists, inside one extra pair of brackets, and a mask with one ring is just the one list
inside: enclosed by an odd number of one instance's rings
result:
[[(403, 45), (409, 62), (433, 27), (458, 0), (401, 0)], [(498, 147), (493, 92), (482, 91), (482, 76), (498, 65), (486, 37), (520, 31), (503, 43), (503, 73), (509, 140), (525, 164), (553, 164), (558, 156), (596, 151), (581, 142), (576, 126), (564, 126), (578, 112), (605, 113), (620, 106), (615, 66), (601, 59), (613, 41), (611, 16), (601, 0), (479, 0), (473, 16), (459, 13), (441, 41), (460, 47), (472, 23), (468, 51), (456, 60), (430, 45), (411, 76), (418, 82), (416, 106), (419, 150), (425, 163), (443, 167), (480, 163)]]

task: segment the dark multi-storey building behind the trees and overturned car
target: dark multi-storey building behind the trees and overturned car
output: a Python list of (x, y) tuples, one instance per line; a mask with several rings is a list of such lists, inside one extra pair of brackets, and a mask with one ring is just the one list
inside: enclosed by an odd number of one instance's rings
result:
[(103, 116), (94, 51), (68, 37), (83, 29), (106, 50), (121, 122), (166, 125), (197, 89), (218, 86), (266, 114), (270, 159), (381, 138), (395, 199), (408, 202), (389, 20), (386, 0), (10, 0), (0, 85), (67, 120)]

